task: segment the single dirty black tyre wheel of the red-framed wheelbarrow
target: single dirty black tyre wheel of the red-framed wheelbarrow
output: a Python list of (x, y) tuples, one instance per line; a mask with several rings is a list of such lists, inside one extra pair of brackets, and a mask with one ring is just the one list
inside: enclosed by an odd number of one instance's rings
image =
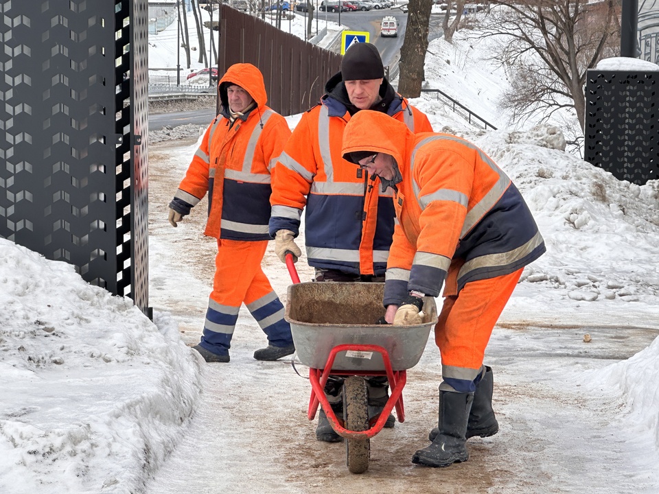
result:
[[(366, 381), (362, 377), (351, 376), (345, 379), (343, 413), (347, 430), (365, 431), (369, 429), (369, 401)], [(348, 470), (351, 473), (364, 473), (369, 469), (371, 440), (346, 438), (345, 456)]]

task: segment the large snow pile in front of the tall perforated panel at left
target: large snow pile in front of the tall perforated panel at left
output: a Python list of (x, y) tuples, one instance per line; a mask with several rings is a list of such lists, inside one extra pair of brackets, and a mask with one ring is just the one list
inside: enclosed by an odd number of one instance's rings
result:
[(5, 239), (0, 280), (0, 492), (143, 484), (200, 393), (176, 322)]

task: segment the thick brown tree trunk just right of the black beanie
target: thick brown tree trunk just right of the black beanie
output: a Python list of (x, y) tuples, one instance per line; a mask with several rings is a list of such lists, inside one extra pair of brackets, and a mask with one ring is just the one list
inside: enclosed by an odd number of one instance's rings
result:
[(410, 0), (405, 40), (400, 49), (398, 92), (405, 97), (419, 97), (425, 79), (424, 63), (428, 49), (428, 24), (432, 0)]

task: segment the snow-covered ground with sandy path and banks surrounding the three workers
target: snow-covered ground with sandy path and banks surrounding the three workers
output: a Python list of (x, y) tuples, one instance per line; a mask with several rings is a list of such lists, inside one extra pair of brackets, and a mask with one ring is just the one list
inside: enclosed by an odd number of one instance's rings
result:
[[(494, 102), (505, 76), (468, 42), (436, 40), (430, 51), (427, 67), (443, 67), (427, 71), (433, 86), (503, 117)], [(172, 64), (165, 43), (150, 56)], [(150, 148), (153, 321), (72, 266), (0, 239), (0, 492), (658, 492), (658, 182), (592, 167), (564, 151), (555, 126), (484, 132), (437, 101), (413, 103), (435, 130), (494, 158), (546, 240), (488, 347), (497, 436), (470, 440), (470, 461), (448, 469), (411, 464), (437, 421), (441, 362), (430, 338), (408, 373), (406, 421), (375, 436), (369, 471), (350, 475), (341, 445), (315, 441), (308, 381), (288, 362), (253, 360), (265, 338), (244, 307), (230, 364), (189, 349), (214, 245), (201, 235), (203, 204), (176, 229), (166, 215), (192, 132)], [(264, 269), (286, 302), (290, 278), (271, 247)]]

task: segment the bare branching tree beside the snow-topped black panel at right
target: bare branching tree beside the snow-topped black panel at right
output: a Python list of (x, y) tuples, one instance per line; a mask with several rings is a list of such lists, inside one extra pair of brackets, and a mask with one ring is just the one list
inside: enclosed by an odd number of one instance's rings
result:
[[(511, 88), (501, 106), (514, 119), (542, 111), (543, 120), (573, 108), (583, 131), (587, 70), (614, 54), (617, 0), (492, 0), (487, 36), (501, 36), (494, 58), (508, 68)], [(619, 39), (619, 38), (618, 38)]]

